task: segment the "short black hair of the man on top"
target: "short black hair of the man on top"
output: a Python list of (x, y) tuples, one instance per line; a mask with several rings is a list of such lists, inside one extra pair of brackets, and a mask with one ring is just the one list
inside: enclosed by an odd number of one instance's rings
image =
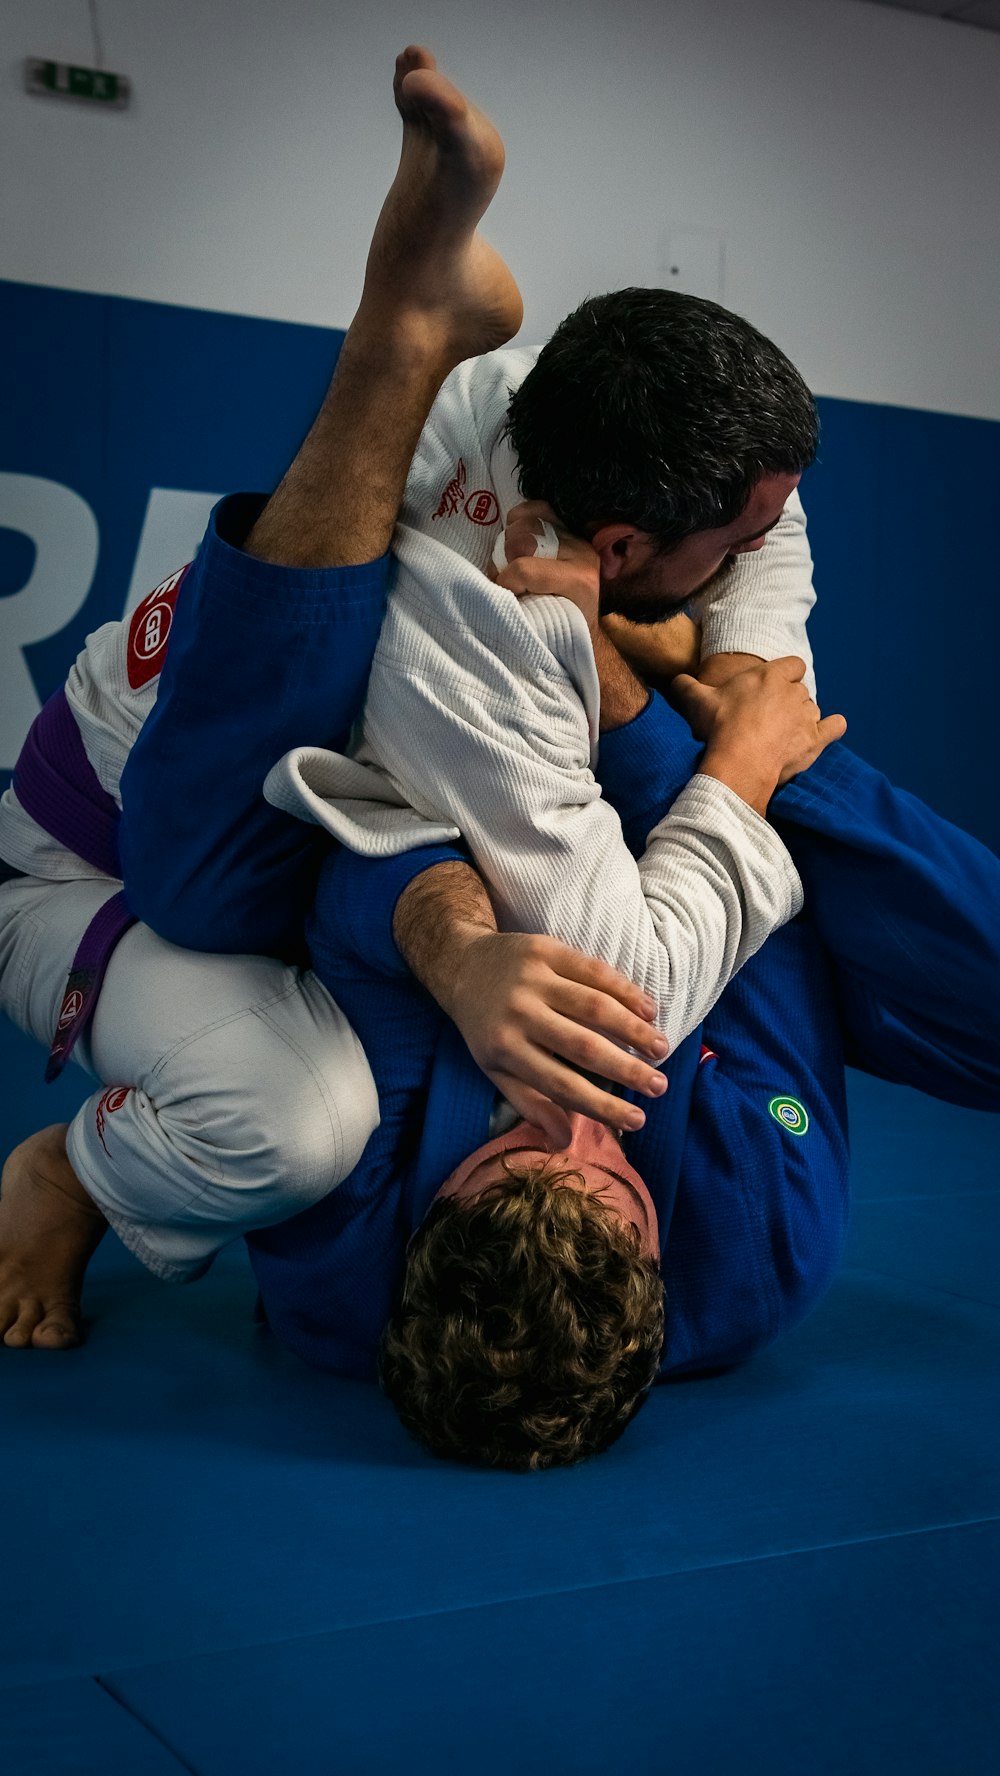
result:
[(675, 289), (588, 297), (512, 394), (526, 499), (575, 535), (636, 524), (661, 551), (732, 524), (767, 474), (815, 458), (815, 401), (776, 345)]

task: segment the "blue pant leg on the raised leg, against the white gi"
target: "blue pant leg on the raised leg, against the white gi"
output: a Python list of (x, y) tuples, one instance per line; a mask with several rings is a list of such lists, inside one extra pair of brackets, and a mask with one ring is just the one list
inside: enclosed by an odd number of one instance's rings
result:
[(243, 554), (263, 497), (211, 513), (121, 780), (128, 904), (171, 943), (304, 961), (329, 849), (263, 797), (291, 746), (343, 751), (385, 609), (389, 556), (288, 568)]

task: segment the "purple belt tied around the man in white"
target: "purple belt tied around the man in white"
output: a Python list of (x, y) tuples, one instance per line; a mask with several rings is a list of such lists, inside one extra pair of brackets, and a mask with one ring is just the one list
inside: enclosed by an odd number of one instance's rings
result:
[[(117, 803), (98, 783), (64, 691), (50, 696), (30, 726), (14, 765), (14, 794), (25, 813), (60, 845), (103, 876), (121, 877)], [(119, 892), (94, 913), (80, 938), (59, 1007), (46, 1080), (62, 1073), (73, 1044), (91, 1023), (112, 950), (130, 925), (135, 925), (135, 915), (124, 892)]]

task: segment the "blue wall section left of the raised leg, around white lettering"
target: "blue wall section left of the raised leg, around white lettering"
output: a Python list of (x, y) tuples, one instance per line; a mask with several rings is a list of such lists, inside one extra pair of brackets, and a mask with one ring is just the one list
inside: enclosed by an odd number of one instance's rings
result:
[(85, 606), (28, 650), (44, 698), (91, 629), (121, 616), (149, 488), (274, 487), (343, 332), (0, 281), (0, 469), (75, 488), (101, 531)]

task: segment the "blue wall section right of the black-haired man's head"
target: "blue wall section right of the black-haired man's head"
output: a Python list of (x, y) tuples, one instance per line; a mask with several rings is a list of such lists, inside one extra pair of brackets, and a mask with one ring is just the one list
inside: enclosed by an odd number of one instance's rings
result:
[(1000, 851), (1000, 424), (821, 403), (803, 481), (821, 703), (847, 744)]

